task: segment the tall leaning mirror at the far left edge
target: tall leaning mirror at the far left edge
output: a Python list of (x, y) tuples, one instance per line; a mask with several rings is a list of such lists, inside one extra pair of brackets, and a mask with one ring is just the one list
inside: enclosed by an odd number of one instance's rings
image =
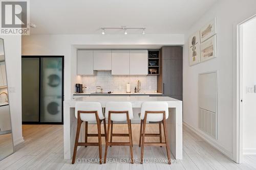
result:
[(4, 40), (0, 38), (0, 160), (14, 152), (6, 77)]

